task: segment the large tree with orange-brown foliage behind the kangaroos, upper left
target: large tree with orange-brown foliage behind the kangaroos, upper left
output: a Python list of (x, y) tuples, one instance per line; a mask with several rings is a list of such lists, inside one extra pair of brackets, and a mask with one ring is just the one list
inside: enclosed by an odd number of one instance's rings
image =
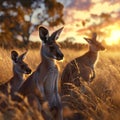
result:
[(0, 43), (29, 43), (38, 25), (64, 24), (63, 5), (56, 0), (0, 0)]

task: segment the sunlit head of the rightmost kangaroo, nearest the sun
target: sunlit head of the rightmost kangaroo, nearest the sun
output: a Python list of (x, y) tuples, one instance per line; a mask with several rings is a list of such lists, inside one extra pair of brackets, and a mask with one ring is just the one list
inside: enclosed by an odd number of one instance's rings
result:
[(84, 38), (90, 45), (90, 50), (93, 52), (105, 50), (105, 47), (96, 40), (97, 34), (93, 33), (92, 38)]

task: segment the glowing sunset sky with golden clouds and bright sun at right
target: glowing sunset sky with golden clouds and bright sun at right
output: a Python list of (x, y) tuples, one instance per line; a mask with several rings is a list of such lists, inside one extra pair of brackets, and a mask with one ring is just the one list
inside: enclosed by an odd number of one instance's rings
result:
[[(74, 42), (85, 43), (93, 26), (105, 33), (98, 38), (105, 39), (106, 43), (116, 44), (120, 40), (120, 1), (119, 0), (57, 0), (64, 5), (64, 30), (60, 41), (74, 37)], [(110, 20), (103, 22), (102, 14), (109, 14)], [(54, 31), (63, 25), (50, 28)], [(117, 37), (116, 37), (117, 36)], [(104, 38), (103, 38), (104, 37)], [(116, 37), (114, 39), (114, 37)], [(100, 39), (100, 40), (101, 40)], [(113, 40), (114, 39), (114, 40)], [(102, 40), (101, 40), (102, 41)], [(118, 44), (118, 43), (117, 43)]]

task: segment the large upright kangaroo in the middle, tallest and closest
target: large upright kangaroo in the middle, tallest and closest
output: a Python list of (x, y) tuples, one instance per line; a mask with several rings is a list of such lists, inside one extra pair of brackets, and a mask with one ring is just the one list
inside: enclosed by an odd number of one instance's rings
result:
[(49, 31), (45, 27), (39, 27), (39, 36), (42, 41), (41, 63), (18, 90), (18, 93), (23, 96), (35, 95), (41, 104), (48, 101), (50, 110), (57, 111), (55, 120), (63, 119), (61, 99), (58, 93), (59, 72), (55, 62), (56, 60), (62, 60), (64, 57), (56, 43), (62, 29), (63, 27), (49, 36)]

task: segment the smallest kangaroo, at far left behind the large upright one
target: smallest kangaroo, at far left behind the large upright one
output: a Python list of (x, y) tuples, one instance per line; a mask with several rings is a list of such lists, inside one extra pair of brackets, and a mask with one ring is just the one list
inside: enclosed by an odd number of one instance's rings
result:
[(11, 59), (13, 61), (13, 77), (6, 82), (5, 84), (0, 85), (0, 91), (6, 95), (8, 95), (8, 85), (10, 85), (10, 94), (13, 94), (18, 90), (20, 85), (22, 84), (23, 74), (30, 74), (31, 69), (28, 65), (23, 61), (27, 52), (18, 55), (16, 51), (11, 52)]

